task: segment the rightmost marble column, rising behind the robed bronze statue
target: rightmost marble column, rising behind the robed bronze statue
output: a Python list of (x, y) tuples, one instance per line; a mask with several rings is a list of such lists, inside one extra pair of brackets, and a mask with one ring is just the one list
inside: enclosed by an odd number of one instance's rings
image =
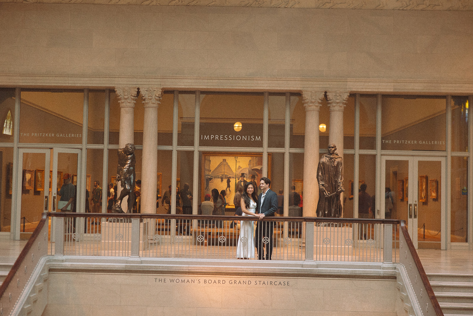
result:
[(337, 153), (343, 158), (343, 110), (347, 105), (348, 92), (327, 92), (330, 108), (328, 143), (337, 146)]

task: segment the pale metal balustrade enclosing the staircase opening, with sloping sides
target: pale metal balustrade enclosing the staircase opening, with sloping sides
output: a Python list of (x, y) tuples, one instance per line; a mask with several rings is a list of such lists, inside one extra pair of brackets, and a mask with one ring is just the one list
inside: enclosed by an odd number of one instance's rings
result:
[[(49, 217), (52, 235), (48, 253)], [(249, 218), (44, 213), (0, 286), (0, 316), (12, 315), (15, 309), (21, 308), (18, 302), (24, 299), (22, 295), (29, 279), (41, 257), (48, 254), (236, 259), (241, 223), (245, 220)], [(423, 314), (443, 315), (404, 221), (266, 217), (258, 223), (272, 223), (272, 236), (261, 235), (259, 239), (256, 236), (262, 246), (272, 242), (272, 260), (400, 262), (405, 266)], [(257, 258), (256, 252), (254, 257)]]

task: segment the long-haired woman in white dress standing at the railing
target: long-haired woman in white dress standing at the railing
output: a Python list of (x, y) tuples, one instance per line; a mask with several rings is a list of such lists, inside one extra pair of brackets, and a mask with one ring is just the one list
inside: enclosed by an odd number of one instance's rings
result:
[[(240, 200), (242, 216), (256, 216), (256, 192), (253, 183), (246, 182)], [(254, 224), (253, 221), (241, 221), (240, 236), (236, 245), (236, 258), (254, 258)]]

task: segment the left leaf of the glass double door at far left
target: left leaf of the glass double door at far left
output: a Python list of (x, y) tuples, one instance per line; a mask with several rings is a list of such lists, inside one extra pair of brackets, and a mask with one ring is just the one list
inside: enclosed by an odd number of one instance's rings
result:
[(15, 239), (29, 239), (49, 205), (50, 149), (19, 148)]

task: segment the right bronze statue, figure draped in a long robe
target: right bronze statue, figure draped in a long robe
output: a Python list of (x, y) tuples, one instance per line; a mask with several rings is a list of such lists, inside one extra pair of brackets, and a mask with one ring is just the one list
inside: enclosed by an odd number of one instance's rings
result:
[(329, 144), (328, 153), (320, 158), (317, 168), (320, 191), (317, 217), (342, 217), (343, 162), (336, 150), (335, 144)]

